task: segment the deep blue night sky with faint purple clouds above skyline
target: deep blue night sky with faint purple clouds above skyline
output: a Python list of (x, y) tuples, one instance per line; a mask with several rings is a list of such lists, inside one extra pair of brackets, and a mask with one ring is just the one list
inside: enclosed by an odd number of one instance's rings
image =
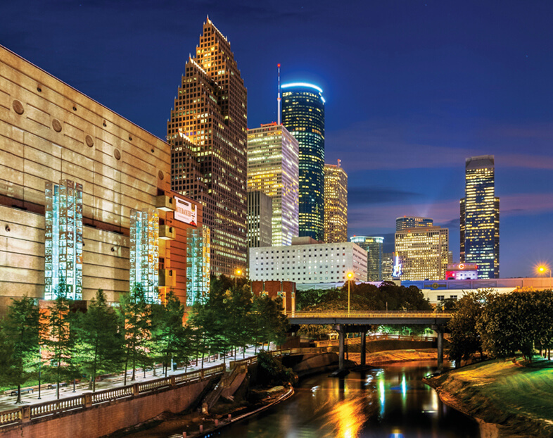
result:
[(553, 1), (2, 1), (0, 44), (165, 138), (206, 15), (231, 42), (248, 126), (283, 82), (326, 99), (326, 163), (349, 175), (349, 234), (422, 215), (459, 260), (464, 161), (495, 155), (501, 277), (553, 263)]

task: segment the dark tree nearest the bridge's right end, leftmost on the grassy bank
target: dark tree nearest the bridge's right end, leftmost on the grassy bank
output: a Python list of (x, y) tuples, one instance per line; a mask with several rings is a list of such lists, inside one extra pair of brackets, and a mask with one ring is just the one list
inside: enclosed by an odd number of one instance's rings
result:
[(481, 289), (464, 294), (455, 304), (447, 328), (451, 332), (448, 353), (457, 366), (461, 360), (470, 358), (477, 351), (482, 356), (482, 339), (476, 325), (495, 295), (494, 289)]

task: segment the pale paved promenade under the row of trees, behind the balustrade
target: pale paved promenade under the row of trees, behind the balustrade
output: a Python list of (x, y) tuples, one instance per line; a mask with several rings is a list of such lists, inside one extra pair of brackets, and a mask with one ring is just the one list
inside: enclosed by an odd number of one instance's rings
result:
[[(246, 349), (246, 354), (243, 355), (243, 353), (239, 353), (234, 356), (227, 356), (225, 358), (225, 362), (227, 363), (227, 367), (229, 366), (230, 361), (239, 361), (242, 358), (255, 356), (255, 349), (254, 347), (249, 347)], [(223, 363), (222, 358), (217, 358), (212, 361), (205, 360), (203, 363), (203, 368), (209, 368), (215, 365), (220, 365)], [(201, 370), (201, 358), (198, 360), (198, 365), (191, 365), (189, 367), (177, 368), (176, 370), (167, 370), (167, 376), (174, 375), (174, 374), (182, 374), (182, 373), (189, 373), (190, 371), (194, 370)], [(155, 375), (153, 375), (153, 370), (147, 370), (146, 371), (146, 377), (144, 377), (144, 371), (142, 369), (137, 369), (135, 373), (135, 380), (131, 381), (132, 377), (132, 370), (127, 371), (127, 385), (134, 384), (134, 383), (142, 383), (147, 382), (148, 380), (156, 380), (160, 377), (165, 377), (165, 370), (163, 367), (156, 367), (155, 368)], [(124, 383), (124, 374), (121, 373), (120, 375), (113, 375), (109, 377), (104, 377), (102, 380), (96, 382), (96, 391), (101, 391), (103, 389), (111, 389), (115, 387), (122, 387)], [(34, 392), (23, 392), (21, 394), (21, 401), (23, 403), (23, 406), (30, 406), (34, 404), (44, 403), (46, 401), (53, 401), (56, 400), (56, 385), (51, 384), (51, 382), (45, 382), (41, 384), (40, 393), (38, 391), (38, 387), (33, 387)], [(27, 389), (27, 387), (23, 386), (22, 389)], [(4, 394), (0, 394), (0, 412), (1, 411), (9, 411), (11, 409), (20, 408), (21, 404), (16, 404), (15, 401), (17, 400), (17, 395), (11, 395), (13, 392), (13, 389), (10, 391), (4, 392)], [(89, 382), (79, 382), (75, 384), (75, 389), (73, 388), (73, 384), (71, 382), (66, 382), (66, 385), (63, 387), (60, 387), (60, 399), (64, 399), (67, 397), (74, 397), (80, 394), (83, 394), (85, 392), (91, 392), (89, 389)]]

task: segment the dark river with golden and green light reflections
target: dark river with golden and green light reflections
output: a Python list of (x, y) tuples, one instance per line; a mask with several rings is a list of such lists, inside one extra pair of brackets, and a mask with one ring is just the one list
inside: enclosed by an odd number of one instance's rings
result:
[(478, 438), (478, 423), (421, 382), (436, 362), (385, 365), (343, 379), (307, 377), (290, 399), (217, 437)]

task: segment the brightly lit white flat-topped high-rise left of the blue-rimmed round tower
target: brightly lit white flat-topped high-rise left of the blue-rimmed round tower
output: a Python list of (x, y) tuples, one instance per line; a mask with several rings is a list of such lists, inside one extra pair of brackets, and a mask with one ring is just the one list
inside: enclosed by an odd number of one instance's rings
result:
[(298, 237), (298, 148), (298, 140), (277, 123), (248, 130), (248, 190), (272, 198), (274, 246)]

